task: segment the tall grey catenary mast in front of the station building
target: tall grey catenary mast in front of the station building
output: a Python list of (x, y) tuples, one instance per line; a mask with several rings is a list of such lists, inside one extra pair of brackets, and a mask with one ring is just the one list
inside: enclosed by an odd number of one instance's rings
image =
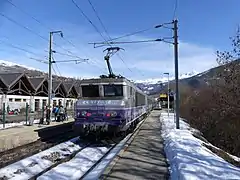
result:
[[(50, 108), (51, 107), (51, 95), (52, 95), (52, 32), (50, 32), (50, 37), (49, 37), (49, 56), (48, 56), (48, 58), (49, 58), (48, 59), (49, 60), (49, 62), (48, 62), (48, 107)], [(50, 114), (50, 117), (51, 117), (51, 114)]]

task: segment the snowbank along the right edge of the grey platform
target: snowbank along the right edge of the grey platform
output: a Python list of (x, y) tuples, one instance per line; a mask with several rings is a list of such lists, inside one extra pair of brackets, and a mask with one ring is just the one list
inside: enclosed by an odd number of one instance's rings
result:
[(218, 179), (240, 180), (240, 168), (220, 158), (192, 135), (192, 128), (180, 119), (180, 129), (176, 129), (174, 115), (162, 113), (162, 136), (165, 152), (170, 164), (171, 179)]

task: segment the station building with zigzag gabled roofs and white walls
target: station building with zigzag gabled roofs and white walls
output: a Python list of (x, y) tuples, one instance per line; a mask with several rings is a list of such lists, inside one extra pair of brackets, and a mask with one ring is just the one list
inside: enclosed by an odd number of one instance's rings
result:
[[(74, 102), (80, 96), (81, 80), (53, 79), (53, 104), (62, 104), (73, 108)], [(0, 73), (0, 103), (12, 109), (21, 109), (29, 104), (31, 111), (38, 111), (48, 102), (47, 76), (31, 77), (25, 73)]]

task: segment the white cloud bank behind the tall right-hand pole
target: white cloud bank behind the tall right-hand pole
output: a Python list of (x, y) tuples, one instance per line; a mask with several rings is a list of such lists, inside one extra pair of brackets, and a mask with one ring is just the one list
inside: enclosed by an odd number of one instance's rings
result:
[[(173, 47), (168, 44), (146, 46), (144, 49), (129, 51), (125, 56), (130, 67), (136, 67), (142, 72), (149, 73), (149, 77), (159, 77), (163, 72), (174, 74)], [(130, 63), (129, 63), (130, 62)], [(180, 42), (179, 45), (179, 73), (202, 72), (215, 67), (215, 50), (191, 43)], [(118, 68), (124, 68), (123, 65)]]

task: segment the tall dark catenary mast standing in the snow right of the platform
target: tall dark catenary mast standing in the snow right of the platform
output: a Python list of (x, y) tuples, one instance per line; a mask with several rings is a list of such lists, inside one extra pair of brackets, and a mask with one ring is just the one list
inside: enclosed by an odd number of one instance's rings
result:
[(174, 20), (174, 57), (175, 57), (175, 85), (176, 85), (176, 128), (179, 129), (179, 90), (178, 90), (178, 20)]

